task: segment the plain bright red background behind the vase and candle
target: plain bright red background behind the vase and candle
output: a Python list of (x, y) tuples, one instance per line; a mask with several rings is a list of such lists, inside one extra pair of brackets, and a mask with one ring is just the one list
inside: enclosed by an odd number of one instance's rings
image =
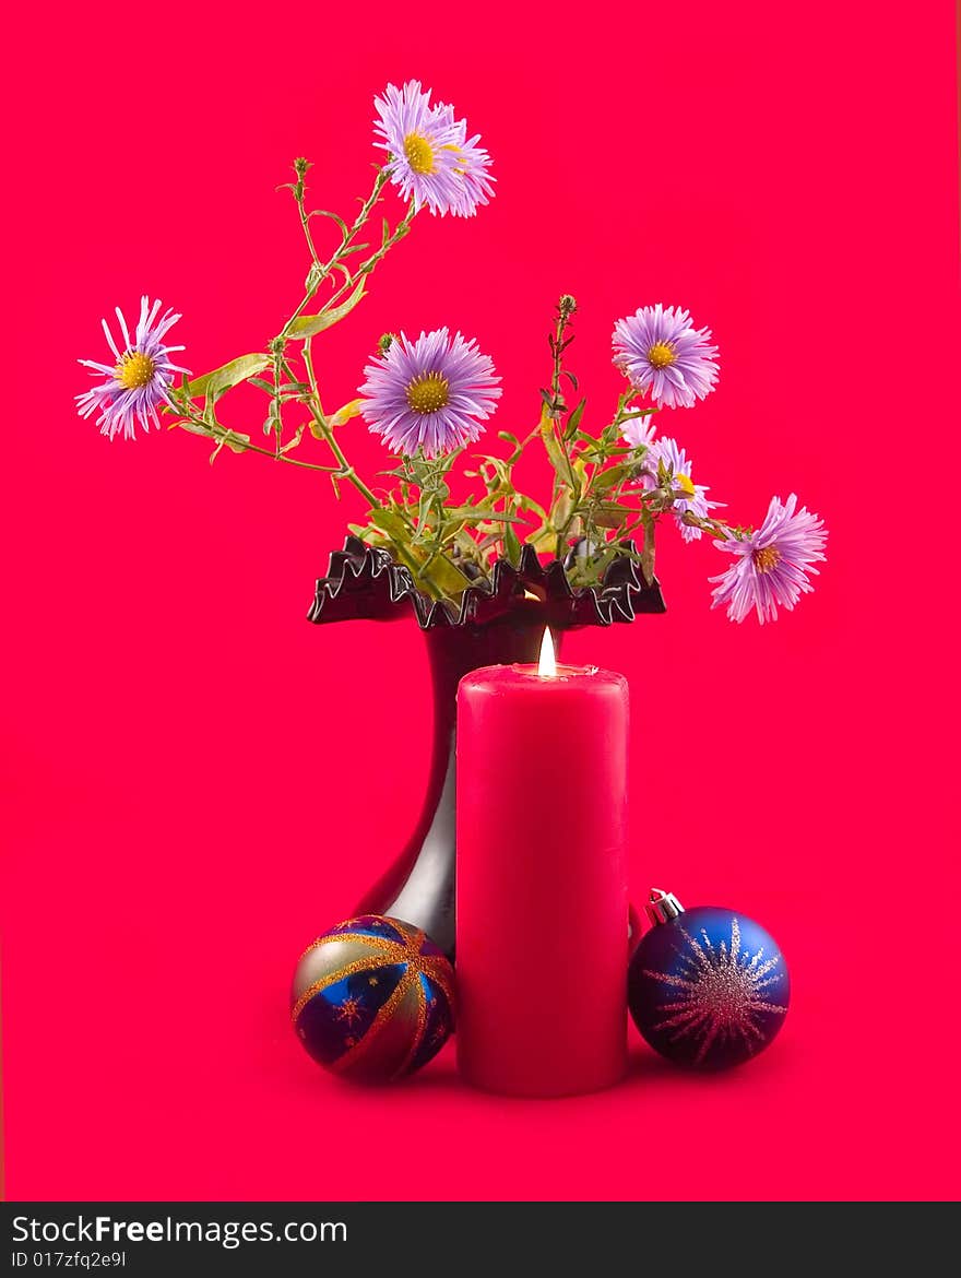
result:
[[(910, 20), (860, 0), (257, 17), (176, 0), (10, 22), (9, 1195), (956, 1195), (946, 0)], [(319, 477), (230, 454), (211, 469), (183, 435), (111, 446), (74, 415), (74, 358), (104, 358), (100, 317), (141, 291), (184, 312), (196, 372), (277, 331), (305, 261), (275, 187), (303, 153), (318, 199), (349, 211), (372, 97), (406, 77), (482, 132), (497, 198), (468, 224), (418, 219), (317, 344), (327, 403), (385, 328), (447, 323), (504, 374), (497, 424), (524, 429), (570, 290), (598, 424), (613, 320), (680, 303), (722, 350), (718, 391), (671, 422), (695, 475), (736, 520), (795, 489), (831, 528), (817, 593), (776, 626), (711, 612), (721, 556), (666, 535), (670, 612), (567, 649), (633, 684), (635, 897), (735, 905), (788, 957), (781, 1038), (728, 1076), (671, 1072), (633, 1031), (629, 1081), (567, 1102), (468, 1091), (450, 1048), (390, 1091), (312, 1065), (288, 980), (413, 820), (420, 635), (304, 621), (359, 512)], [(252, 403), (233, 424), (256, 433)], [(359, 423), (344, 438), (380, 465)], [(576, 744), (551, 748), (560, 782)], [(519, 974), (524, 997), (551, 997), (539, 975)]]

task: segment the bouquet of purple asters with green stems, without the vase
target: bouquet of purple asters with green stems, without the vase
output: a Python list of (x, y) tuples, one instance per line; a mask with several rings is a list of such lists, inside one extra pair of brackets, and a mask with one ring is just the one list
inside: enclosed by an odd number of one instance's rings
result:
[[(712, 334), (685, 309), (644, 305), (616, 322), (613, 360), (625, 389), (598, 424), (569, 366), (576, 314), (570, 295), (561, 296), (553, 318), (550, 378), (533, 428), (500, 431), (491, 451), (473, 446), (497, 408), (500, 378), (474, 340), (447, 328), (418, 337), (385, 334), (358, 397), (335, 412), (325, 408), (316, 339), (359, 305), (374, 270), (420, 213), (470, 217), (493, 196), (479, 137), (468, 135), (451, 106), (431, 105), (417, 81), (388, 86), (376, 109), (376, 146), (386, 157), (353, 221), (308, 207), (311, 165), (294, 161), (286, 189), (309, 268), (299, 303), (267, 348), (193, 376), (174, 362), (184, 349), (170, 343), (180, 316), (143, 298), (133, 331), (119, 308), (119, 336), (104, 321), (110, 358), (81, 360), (97, 378), (77, 397), (82, 417), (96, 415), (110, 440), (132, 440), (138, 424), (150, 431), (164, 417), (208, 438), (211, 461), (224, 449), (256, 452), (326, 474), (337, 497), (351, 484), (367, 507), (363, 523), (349, 525), (354, 544), (380, 556), (373, 571), (387, 560), (403, 570), (418, 598), (440, 604), (433, 617), (460, 616), (469, 590), (495, 592), (498, 565), (520, 570), (521, 593), (532, 593), (542, 556), (560, 565), (561, 589), (571, 593), (602, 592), (626, 567), (640, 574), (642, 589), (653, 588), (656, 533), (666, 518), (686, 542), (707, 534), (730, 557), (711, 580), (713, 606), (726, 607), (734, 621), (755, 611), (763, 624), (778, 607), (794, 608), (824, 558), (823, 523), (794, 493), (773, 497), (758, 527), (730, 523), (695, 482), (685, 449), (658, 431), (661, 409), (691, 408), (717, 383)], [(382, 212), (391, 187), (403, 201), (399, 216)], [(332, 250), (318, 247), (321, 226), (334, 233)], [(259, 433), (224, 419), (229, 392), (242, 383), (265, 396)], [(357, 418), (388, 450), (390, 464), (377, 478), (365, 479), (349, 460)], [(552, 468), (550, 492), (539, 497), (515, 482), (532, 447), (544, 450)], [(473, 484), (456, 500), (455, 468)]]

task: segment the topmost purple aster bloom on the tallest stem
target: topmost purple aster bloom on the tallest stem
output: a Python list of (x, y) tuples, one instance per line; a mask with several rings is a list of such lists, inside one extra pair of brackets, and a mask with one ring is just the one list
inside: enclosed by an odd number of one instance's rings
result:
[(388, 153), (386, 170), (415, 212), (427, 207), (441, 216), (470, 217), (487, 203), (493, 194), (491, 157), (477, 144), (479, 134), (468, 138), (466, 121), (454, 119), (452, 106), (431, 106), (431, 92), (422, 92), (419, 81), (400, 89), (388, 84), (374, 106), (374, 130), (383, 138), (377, 146)]

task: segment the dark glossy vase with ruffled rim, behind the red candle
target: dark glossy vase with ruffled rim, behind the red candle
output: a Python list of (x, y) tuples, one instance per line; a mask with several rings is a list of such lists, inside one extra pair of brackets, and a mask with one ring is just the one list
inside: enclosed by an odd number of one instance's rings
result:
[(452, 957), (457, 684), (480, 666), (535, 662), (548, 626), (560, 648), (565, 630), (663, 611), (657, 580), (647, 584), (627, 556), (615, 560), (603, 584), (575, 588), (558, 560), (542, 565), (525, 546), (516, 566), (498, 560), (491, 580), (469, 587), (455, 608), (422, 594), (386, 551), (348, 538), (317, 583), (308, 619), (392, 621), (413, 613), (424, 631), (433, 682), (433, 746), (420, 817), (355, 912), (386, 914), (423, 928)]

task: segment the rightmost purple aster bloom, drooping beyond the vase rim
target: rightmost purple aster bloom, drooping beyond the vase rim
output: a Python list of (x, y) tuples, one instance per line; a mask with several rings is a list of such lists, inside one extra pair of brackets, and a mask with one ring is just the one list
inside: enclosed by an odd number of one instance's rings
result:
[(817, 515), (796, 507), (794, 493), (783, 505), (772, 497), (764, 523), (750, 537), (739, 539), (732, 534), (714, 542), (736, 557), (726, 573), (711, 578), (721, 583), (713, 590), (712, 608), (725, 604), (731, 621), (744, 621), (757, 608), (764, 625), (777, 620), (778, 603), (790, 611), (801, 594), (814, 589), (808, 576), (817, 575), (813, 565), (824, 561), (828, 534)]

